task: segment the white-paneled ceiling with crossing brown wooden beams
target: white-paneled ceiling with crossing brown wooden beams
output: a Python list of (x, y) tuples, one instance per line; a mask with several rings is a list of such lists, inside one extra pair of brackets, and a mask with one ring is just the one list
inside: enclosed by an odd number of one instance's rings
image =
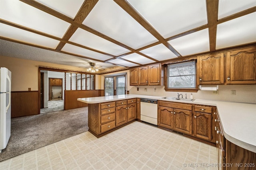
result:
[(140, 66), (256, 43), (255, 0), (0, 0), (0, 55)]

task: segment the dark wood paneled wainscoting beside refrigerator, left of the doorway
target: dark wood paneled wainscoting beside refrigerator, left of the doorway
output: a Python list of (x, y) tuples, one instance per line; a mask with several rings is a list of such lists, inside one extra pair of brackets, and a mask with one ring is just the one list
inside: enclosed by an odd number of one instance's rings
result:
[(38, 109), (38, 91), (20, 91), (12, 92), (11, 115), (22, 117), (39, 114)]

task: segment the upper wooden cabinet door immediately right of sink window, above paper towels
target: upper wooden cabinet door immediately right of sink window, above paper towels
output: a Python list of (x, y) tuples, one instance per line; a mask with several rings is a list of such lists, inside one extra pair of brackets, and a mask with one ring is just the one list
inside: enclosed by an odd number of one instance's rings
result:
[(197, 58), (198, 84), (224, 84), (224, 54), (202, 55)]

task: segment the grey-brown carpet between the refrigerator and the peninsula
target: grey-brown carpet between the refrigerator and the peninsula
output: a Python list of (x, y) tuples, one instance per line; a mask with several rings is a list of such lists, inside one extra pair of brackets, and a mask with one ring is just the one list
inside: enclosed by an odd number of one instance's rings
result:
[(11, 119), (11, 137), (0, 161), (88, 131), (88, 107)]

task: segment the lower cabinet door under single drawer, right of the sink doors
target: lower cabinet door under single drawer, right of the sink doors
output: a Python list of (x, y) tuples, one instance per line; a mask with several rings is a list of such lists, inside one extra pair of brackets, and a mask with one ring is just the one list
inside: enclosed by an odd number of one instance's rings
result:
[(212, 140), (212, 114), (194, 112), (193, 135), (204, 140)]

